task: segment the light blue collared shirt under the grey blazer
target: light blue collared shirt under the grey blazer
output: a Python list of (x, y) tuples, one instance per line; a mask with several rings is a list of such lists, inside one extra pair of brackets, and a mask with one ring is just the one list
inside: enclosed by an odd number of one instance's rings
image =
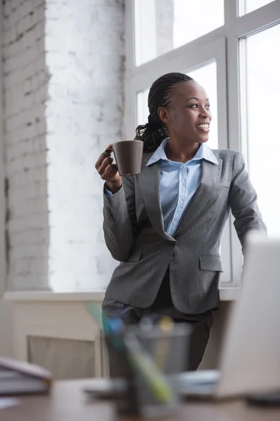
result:
[(161, 142), (149, 159), (147, 166), (156, 162), (160, 164), (160, 198), (164, 230), (173, 236), (189, 201), (199, 187), (202, 159), (217, 165), (218, 161), (205, 143), (201, 143), (195, 156), (189, 161), (185, 163), (170, 161), (165, 152), (168, 142), (169, 138)]

